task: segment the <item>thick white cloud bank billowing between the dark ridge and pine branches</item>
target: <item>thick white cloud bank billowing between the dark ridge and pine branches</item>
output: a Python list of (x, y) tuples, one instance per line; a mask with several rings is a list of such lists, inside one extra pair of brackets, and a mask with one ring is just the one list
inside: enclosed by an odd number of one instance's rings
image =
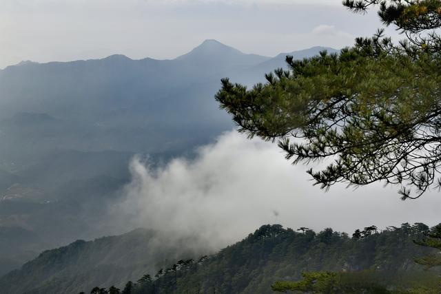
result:
[(440, 222), (439, 193), (402, 202), (397, 187), (336, 186), (325, 192), (312, 185), (305, 167), (290, 165), (276, 145), (247, 140), (236, 131), (200, 147), (191, 160), (175, 158), (154, 168), (134, 158), (130, 169), (132, 182), (116, 206), (120, 224), (197, 234), (213, 249), (267, 223), (351, 233), (371, 224)]

